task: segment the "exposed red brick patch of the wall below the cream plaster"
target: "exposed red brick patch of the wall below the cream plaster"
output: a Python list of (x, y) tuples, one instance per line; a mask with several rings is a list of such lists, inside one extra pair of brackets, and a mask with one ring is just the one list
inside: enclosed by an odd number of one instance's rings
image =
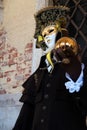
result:
[(0, 94), (20, 92), (21, 84), (30, 76), (32, 43), (22, 53), (6, 42), (6, 32), (0, 35)]

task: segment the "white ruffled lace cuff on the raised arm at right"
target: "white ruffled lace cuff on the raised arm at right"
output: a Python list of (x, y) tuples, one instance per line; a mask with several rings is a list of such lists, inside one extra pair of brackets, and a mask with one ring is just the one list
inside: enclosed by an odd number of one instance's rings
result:
[(69, 80), (68, 82), (65, 82), (66, 89), (69, 89), (70, 93), (73, 92), (79, 92), (80, 88), (83, 86), (83, 69), (84, 69), (84, 64), (82, 63), (81, 65), (82, 70), (80, 73), (80, 76), (78, 77), (77, 81), (74, 82), (68, 73), (65, 73), (66, 78)]

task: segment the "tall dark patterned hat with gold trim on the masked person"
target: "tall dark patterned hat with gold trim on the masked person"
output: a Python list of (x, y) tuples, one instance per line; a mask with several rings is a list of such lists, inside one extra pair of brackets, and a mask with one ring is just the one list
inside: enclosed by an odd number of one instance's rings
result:
[(35, 14), (36, 28), (34, 38), (38, 38), (41, 35), (42, 30), (49, 25), (60, 25), (61, 28), (66, 27), (66, 15), (69, 12), (69, 8), (66, 6), (51, 6), (45, 7), (39, 10)]

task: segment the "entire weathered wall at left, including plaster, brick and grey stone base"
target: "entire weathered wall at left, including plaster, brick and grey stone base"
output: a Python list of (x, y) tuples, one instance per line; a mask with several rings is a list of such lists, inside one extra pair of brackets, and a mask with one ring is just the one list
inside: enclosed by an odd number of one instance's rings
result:
[[(12, 130), (22, 83), (31, 75), (35, 0), (4, 0), (0, 28), (0, 130)], [(0, 15), (1, 16), (1, 15)]]

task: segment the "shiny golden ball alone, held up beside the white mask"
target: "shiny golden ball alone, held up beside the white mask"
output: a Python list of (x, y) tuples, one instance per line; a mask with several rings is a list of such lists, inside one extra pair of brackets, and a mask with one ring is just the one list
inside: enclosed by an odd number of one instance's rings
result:
[(62, 58), (62, 63), (68, 64), (70, 63), (70, 57), (72, 55), (77, 55), (79, 52), (79, 46), (77, 42), (70, 38), (70, 37), (62, 37), (60, 38), (55, 45), (55, 50), (57, 51), (57, 54), (61, 55), (61, 51), (64, 52), (66, 55), (64, 58)]

